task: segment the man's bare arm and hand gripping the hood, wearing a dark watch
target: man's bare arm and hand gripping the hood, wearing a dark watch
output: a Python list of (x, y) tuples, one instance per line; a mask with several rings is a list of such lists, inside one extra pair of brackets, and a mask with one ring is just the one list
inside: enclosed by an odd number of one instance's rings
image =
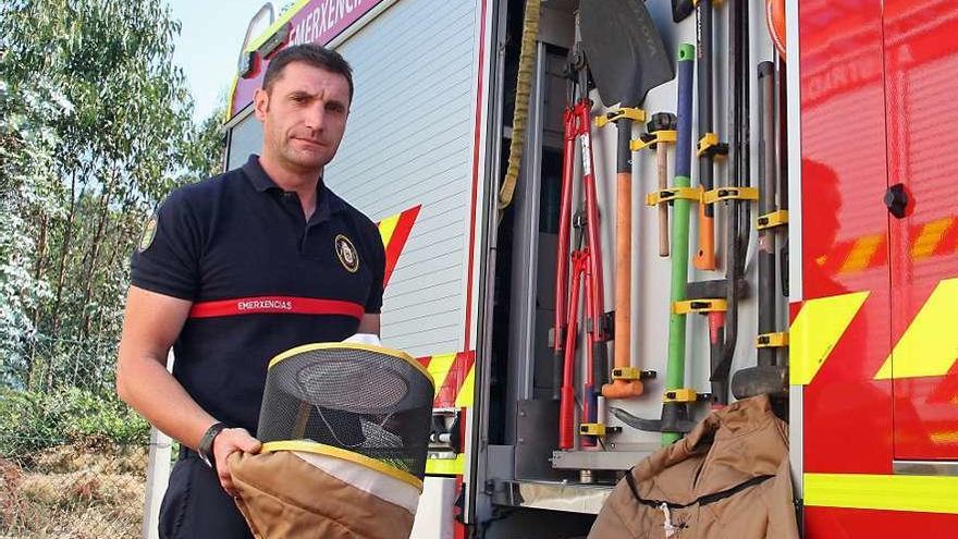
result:
[[(167, 354), (189, 315), (191, 302), (130, 287), (116, 366), (116, 392), (148, 421), (196, 449), (216, 418), (186, 393), (167, 370)], [(244, 429), (225, 429), (213, 453), (220, 482), (235, 494), (226, 457), (235, 451), (258, 452), (259, 442)]]

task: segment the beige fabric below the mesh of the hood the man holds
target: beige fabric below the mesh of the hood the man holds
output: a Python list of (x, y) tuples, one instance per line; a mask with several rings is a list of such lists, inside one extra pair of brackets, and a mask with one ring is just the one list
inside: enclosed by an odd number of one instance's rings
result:
[(236, 505), (257, 539), (405, 539), (414, 515), (288, 451), (234, 453)]

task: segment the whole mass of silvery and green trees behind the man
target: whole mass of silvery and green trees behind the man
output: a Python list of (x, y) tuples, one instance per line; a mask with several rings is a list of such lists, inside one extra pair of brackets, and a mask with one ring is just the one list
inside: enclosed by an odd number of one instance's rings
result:
[(109, 388), (143, 223), (219, 170), (179, 32), (162, 0), (0, 2), (0, 385)]

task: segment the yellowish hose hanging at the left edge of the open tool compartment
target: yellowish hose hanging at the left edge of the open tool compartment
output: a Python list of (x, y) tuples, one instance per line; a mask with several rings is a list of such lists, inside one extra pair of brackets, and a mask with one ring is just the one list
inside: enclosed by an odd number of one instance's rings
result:
[(536, 68), (536, 41), (539, 37), (541, 0), (526, 2), (526, 16), (523, 20), (523, 45), (519, 50), (519, 73), (516, 77), (516, 105), (513, 114), (513, 139), (509, 144), (508, 168), (502, 187), (499, 189), (499, 211), (508, 207), (516, 192), (519, 177), (519, 163), (526, 146), (526, 124), (529, 121), (529, 94), (532, 89), (532, 72)]

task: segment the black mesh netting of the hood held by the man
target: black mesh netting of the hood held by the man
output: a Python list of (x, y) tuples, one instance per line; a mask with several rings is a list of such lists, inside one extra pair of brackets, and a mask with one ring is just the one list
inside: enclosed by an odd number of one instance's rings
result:
[(341, 448), (421, 479), (433, 394), (421, 370), (385, 351), (307, 350), (270, 367), (257, 437)]

